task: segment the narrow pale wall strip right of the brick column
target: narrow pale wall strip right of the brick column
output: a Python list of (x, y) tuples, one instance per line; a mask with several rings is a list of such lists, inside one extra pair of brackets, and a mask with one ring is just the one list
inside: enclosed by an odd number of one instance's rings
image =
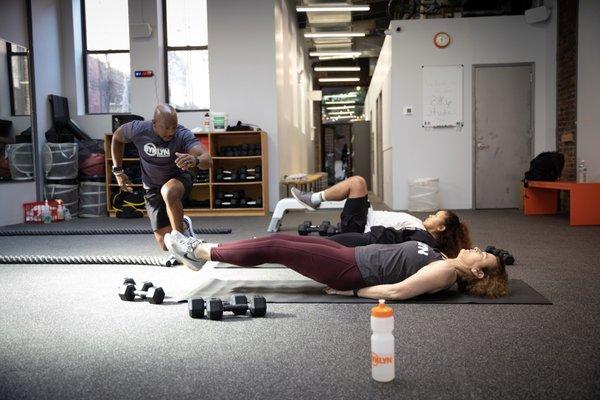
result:
[(600, 2), (579, 0), (577, 61), (577, 161), (588, 182), (600, 182)]

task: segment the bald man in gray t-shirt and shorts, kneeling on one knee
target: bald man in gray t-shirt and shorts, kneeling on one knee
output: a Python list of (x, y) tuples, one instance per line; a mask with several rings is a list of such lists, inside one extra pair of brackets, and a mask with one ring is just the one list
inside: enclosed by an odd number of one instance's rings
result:
[(192, 188), (190, 168), (210, 168), (211, 157), (192, 132), (177, 124), (175, 109), (159, 104), (152, 121), (129, 122), (113, 134), (112, 170), (121, 190), (127, 192), (133, 191), (123, 170), (123, 150), (129, 142), (140, 155), (144, 199), (154, 236), (167, 250), (164, 236), (171, 230), (193, 236), (191, 220), (183, 215), (182, 200)]

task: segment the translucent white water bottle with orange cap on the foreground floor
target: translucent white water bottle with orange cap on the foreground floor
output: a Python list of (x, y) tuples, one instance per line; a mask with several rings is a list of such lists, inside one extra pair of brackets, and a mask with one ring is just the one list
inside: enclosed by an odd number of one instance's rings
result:
[(395, 376), (394, 311), (379, 300), (371, 309), (371, 375), (378, 382), (390, 382)]

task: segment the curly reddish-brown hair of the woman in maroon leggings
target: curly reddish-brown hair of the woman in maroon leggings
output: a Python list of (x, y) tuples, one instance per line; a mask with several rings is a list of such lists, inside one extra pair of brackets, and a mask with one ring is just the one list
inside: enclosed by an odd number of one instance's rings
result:
[(498, 261), (497, 267), (482, 268), (483, 278), (459, 278), (458, 290), (471, 296), (503, 297), (508, 295), (508, 274), (502, 258), (494, 256)]

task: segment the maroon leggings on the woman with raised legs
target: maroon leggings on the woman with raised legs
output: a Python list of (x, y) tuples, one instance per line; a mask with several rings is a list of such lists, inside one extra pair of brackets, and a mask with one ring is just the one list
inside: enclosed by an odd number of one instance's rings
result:
[(220, 244), (210, 258), (241, 267), (279, 263), (334, 289), (351, 290), (366, 286), (354, 252), (324, 238), (274, 234)]

